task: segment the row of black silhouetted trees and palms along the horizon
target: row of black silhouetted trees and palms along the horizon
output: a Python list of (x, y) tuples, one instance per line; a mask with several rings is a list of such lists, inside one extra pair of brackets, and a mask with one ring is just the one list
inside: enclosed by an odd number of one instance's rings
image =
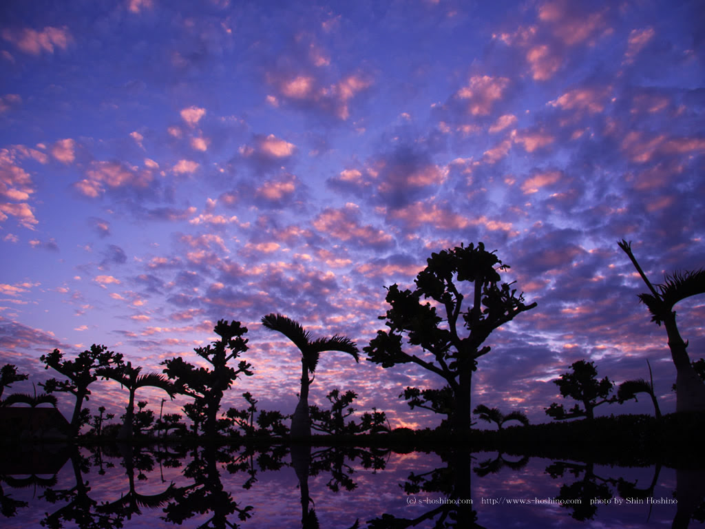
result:
[[(630, 243), (621, 241), (619, 246), (627, 253), (633, 265), (649, 288), (649, 293), (639, 295), (657, 324), (664, 324), (668, 333), (668, 344), (678, 372), (677, 411), (705, 411), (705, 384), (701, 376), (705, 360), (691, 363), (687, 355), (687, 342), (683, 341), (675, 324), (673, 305), (679, 300), (705, 293), (705, 271), (683, 272), (666, 276), (661, 285), (651, 284), (644, 274)], [(460, 245), (452, 250), (431, 254), (425, 267), (415, 279), (413, 290), (401, 290), (397, 284), (387, 288), (386, 301), (389, 308), (385, 320), (386, 329), (379, 330), (363, 348), (367, 359), (388, 368), (398, 364), (414, 363), (443, 379), (440, 388), (407, 387), (400, 398), (410, 408), (425, 408), (444, 415), (440, 428), (453, 434), (467, 434), (472, 424), (472, 413), (480, 420), (495, 422), (502, 429), (505, 422), (516, 420), (526, 425), (526, 415), (519, 411), (503, 414), (499, 408), (484, 405), (471, 407), (472, 374), (477, 370), (477, 360), (491, 351), (485, 345), (491, 332), (510, 322), (522, 312), (537, 307), (537, 303), (526, 303), (523, 293), (513, 288), (514, 283), (501, 281), (501, 274), (509, 269), (495, 252), (489, 252), (482, 243), (477, 246)], [(145, 430), (157, 434), (169, 432), (195, 436), (267, 436), (309, 437), (312, 430), (327, 434), (360, 434), (389, 431), (384, 411), (364, 413), (359, 421), (353, 417), (353, 391), (333, 389), (327, 394), (329, 408), (309, 406), (309, 387), (314, 382), (321, 353), (341, 352), (360, 360), (360, 351), (355, 341), (336, 334), (332, 337), (314, 338), (298, 322), (290, 318), (269, 314), (262, 317), (266, 329), (286, 336), (301, 354), (301, 378), (299, 401), (292, 415), (280, 411), (261, 411), (257, 399), (243, 394), (247, 407), (221, 410), (221, 401), (226, 391), (231, 390), (241, 377), (252, 376), (252, 365), (241, 359), (248, 349), (245, 338), (247, 328), (238, 321), (220, 320), (214, 327), (219, 336), (205, 347), (195, 349), (201, 360), (209, 367), (197, 367), (183, 358), (164, 360), (161, 373), (142, 374), (142, 367), (125, 362), (121, 353), (109, 351), (106, 346), (93, 345), (76, 358), (65, 358), (55, 349), (42, 355), (44, 367), (55, 370), (64, 379), (51, 378), (39, 386), (44, 393), (34, 396), (8, 396), (0, 400), (0, 406), (24, 401), (31, 406), (49, 403), (56, 406), (54, 394), (66, 392), (75, 397), (71, 415), (71, 432), (78, 435), (82, 427), (90, 425), (94, 434), (105, 434), (104, 421), (112, 417), (99, 408), (98, 415), (91, 415), (83, 403), (90, 398), (90, 384), (97, 379), (113, 379), (128, 389), (128, 403), (122, 424), (115, 432), (118, 439), (131, 439)], [(660, 415), (654, 394), (653, 381), (643, 379), (620, 384), (617, 394), (611, 396), (615, 384), (606, 377), (598, 380), (593, 363), (580, 360), (571, 366), (572, 371), (561, 375), (556, 384), (560, 394), (575, 399), (578, 404), (566, 411), (563, 405), (553, 403), (546, 413), (556, 420), (584, 417), (591, 420), (594, 408), (603, 403), (635, 399), (645, 392), (651, 396), (656, 415)], [(649, 367), (650, 369), (650, 367)], [(700, 375), (700, 376), (699, 376)], [(18, 374), (14, 365), (2, 368), (0, 398), (4, 387), (26, 379)], [(173, 399), (177, 395), (188, 396), (191, 402), (183, 406), (183, 413), (190, 425), (183, 422), (180, 414), (167, 414), (159, 418), (146, 409), (145, 401), (137, 401), (137, 390), (156, 387)], [(581, 406), (582, 405), (582, 408)], [(472, 410), (472, 413), (471, 413)], [(290, 430), (286, 422), (291, 419)], [(115, 428), (115, 427), (110, 427)], [(109, 429), (110, 429), (109, 428)]]

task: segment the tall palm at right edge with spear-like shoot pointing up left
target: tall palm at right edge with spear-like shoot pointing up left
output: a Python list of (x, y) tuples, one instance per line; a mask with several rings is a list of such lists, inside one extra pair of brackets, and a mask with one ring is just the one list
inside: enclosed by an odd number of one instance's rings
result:
[(650, 293), (639, 294), (639, 299), (649, 308), (651, 321), (656, 322), (659, 327), (661, 323), (666, 327), (668, 347), (676, 371), (675, 411), (705, 411), (705, 384), (690, 363), (687, 352), (688, 342), (683, 341), (678, 332), (675, 310), (673, 310), (679, 301), (705, 293), (705, 269), (666, 274), (664, 283), (654, 286), (632, 253), (632, 243), (627, 243), (623, 239), (618, 245), (630, 258), (639, 276), (649, 288)]

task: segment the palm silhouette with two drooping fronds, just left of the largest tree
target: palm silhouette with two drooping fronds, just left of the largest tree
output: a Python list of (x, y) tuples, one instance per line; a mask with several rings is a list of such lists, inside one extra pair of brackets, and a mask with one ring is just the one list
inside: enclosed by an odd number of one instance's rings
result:
[[(309, 386), (314, 381), (318, 359), (323, 351), (341, 351), (348, 353), (355, 358), (355, 362), (360, 361), (357, 351), (357, 344), (336, 334), (332, 338), (311, 339), (311, 334), (298, 322), (291, 320), (281, 314), (269, 314), (262, 317), (262, 325), (272, 331), (281, 332), (301, 351), (301, 392), (296, 405), (294, 415), (291, 418), (291, 437), (310, 437), (311, 420), (308, 409)], [(312, 378), (309, 379), (309, 373)]]

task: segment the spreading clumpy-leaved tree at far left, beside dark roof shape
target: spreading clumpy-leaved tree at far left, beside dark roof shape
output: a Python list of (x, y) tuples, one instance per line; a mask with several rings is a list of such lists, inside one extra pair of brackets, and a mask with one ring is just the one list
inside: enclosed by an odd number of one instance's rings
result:
[(59, 349), (54, 349), (48, 355), (42, 355), (39, 360), (45, 364), (44, 369), (58, 371), (68, 380), (57, 380), (51, 378), (40, 382), (39, 386), (44, 387), (47, 393), (63, 391), (75, 396), (76, 402), (71, 416), (71, 430), (73, 434), (78, 434), (81, 426), (90, 420), (90, 413), (82, 413), (83, 401), (87, 401), (90, 396), (88, 387), (98, 379), (96, 370), (101, 367), (116, 367), (123, 364), (123, 355), (108, 351), (106, 346), (99, 346), (95, 343), (80, 353), (75, 360), (64, 360), (63, 353)]

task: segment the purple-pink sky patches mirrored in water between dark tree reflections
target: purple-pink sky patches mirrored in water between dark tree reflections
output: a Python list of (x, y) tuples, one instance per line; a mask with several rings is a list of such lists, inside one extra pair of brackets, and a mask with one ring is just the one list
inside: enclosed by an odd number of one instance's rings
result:
[[(314, 448), (312, 460), (317, 458), (316, 452), (325, 451), (324, 448)], [(82, 450), (83, 455), (87, 451)], [(561, 494), (561, 487), (570, 486), (585, 477), (584, 472), (572, 475), (565, 473), (562, 478), (553, 478), (546, 469), (556, 465), (556, 461), (547, 458), (523, 458), (520, 456), (506, 456), (497, 453), (472, 454), (472, 478), (470, 499), (472, 507), (477, 513), (477, 523), (484, 528), (505, 527), (574, 527), (574, 528), (599, 528), (599, 527), (647, 527), (670, 526), (676, 512), (676, 505), (648, 505), (648, 504), (615, 504), (619, 497), (617, 483), (631, 482), (637, 488), (646, 489), (654, 481), (656, 468), (620, 468), (611, 465), (590, 466), (591, 480), (605, 485), (610, 491), (610, 504), (598, 506), (586, 521), (579, 521), (576, 509), (565, 508), (558, 504), (513, 504), (515, 500), (556, 499)], [(231, 454), (237, 458), (235, 452)], [(254, 455), (257, 458), (257, 454)], [(135, 460), (136, 461), (136, 460)], [(154, 464), (151, 470), (140, 472), (135, 470), (135, 491), (138, 494), (149, 496), (160, 494), (173, 483), (176, 487), (192, 485), (193, 480), (183, 475), (192, 458), (180, 460), (177, 468)], [(241, 528), (255, 527), (298, 527), (301, 525), (300, 487), (296, 474), (289, 466), (288, 454), (283, 461), (286, 466), (281, 470), (262, 470), (255, 466), (256, 480), (247, 472), (229, 473), (223, 464), (219, 464), (220, 484), (223, 490), (230, 493), (240, 508), (252, 506), (251, 518), (238, 521), (235, 514), (228, 518), (231, 523), (239, 523)], [(570, 465), (582, 466), (584, 463), (577, 461), (564, 461)], [(95, 458), (93, 463), (96, 463)], [(360, 461), (345, 459), (348, 465), (348, 474), (354, 482), (351, 490), (344, 488), (340, 492), (332, 492), (331, 473), (320, 472), (311, 475), (308, 479), (309, 495), (319, 524), (326, 528), (350, 528), (355, 521), (360, 522), (364, 528), (372, 525), (373, 521), (381, 518), (383, 514), (415, 520), (423, 518), (425, 513), (439, 507), (439, 502), (447, 502), (453, 498), (452, 493), (426, 492), (421, 490), (414, 494), (404, 492), (405, 483), (409, 482), (410, 474), (423, 475), (434, 469), (447, 468), (446, 461), (439, 454), (426, 454), (412, 452), (410, 454), (397, 454), (394, 452), (384, 454), (384, 469), (369, 470), (360, 465)], [(494, 472), (484, 473), (483, 468), (491, 468)], [(139, 465), (138, 465), (139, 466)], [(99, 475), (99, 468), (104, 474)], [(13, 476), (20, 478), (20, 476)], [(118, 500), (128, 494), (128, 477), (122, 460), (116, 456), (103, 456), (102, 465), (92, 465), (89, 473), (84, 478), (90, 482), (89, 497), (99, 504)], [(247, 484), (247, 485), (246, 485)], [(68, 490), (75, 485), (71, 461), (68, 461), (58, 475), (55, 490)], [(247, 488), (244, 488), (246, 485)], [(659, 468), (655, 480), (653, 496), (656, 498), (673, 499), (676, 487), (675, 470)], [(14, 488), (9, 482), (2, 483), (6, 496), (13, 499), (29, 502), (29, 506), (20, 508), (17, 515), (3, 518), (4, 528), (39, 527), (45, 513), (56, 513), (66, 502), (58, 501), (56, 504), (40, 499), (46, 490), (42, 487)], [(702, 501), (702, 499), (700, 499)], [(163, 506), (162, 506), (163, 507)], [(209, 513), (192, 516), (184, 523), (185, 528), (196, 528), (209, 520)], [(161, 508), (142, 507), (141, 513), (133, 514), (126, 520), (126, 526), (138, 528), (171, 528), (176, 527), (161, 519), (164, 511)], [(436, 516), (438, 518), (438, 516)], [(433, 520), (419, 521), (415, 527), (433, 527)], [(69, 527), (71, 525), (66, 525)], [(378, 525), (380, 526), (380, 525)]]

